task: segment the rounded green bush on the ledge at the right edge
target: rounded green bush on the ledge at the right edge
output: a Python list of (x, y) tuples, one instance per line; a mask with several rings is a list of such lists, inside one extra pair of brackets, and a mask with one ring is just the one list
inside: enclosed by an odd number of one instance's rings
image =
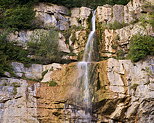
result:
[(135, 35), (131, 38), (129, 58), (137, 62), (147, 55), (154, 55), (154, 37)]

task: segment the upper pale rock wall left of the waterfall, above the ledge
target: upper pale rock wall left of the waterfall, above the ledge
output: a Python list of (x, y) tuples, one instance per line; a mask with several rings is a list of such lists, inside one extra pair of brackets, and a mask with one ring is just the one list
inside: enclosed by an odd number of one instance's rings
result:
[[(17, 41), (26, 47), (27, 42), (39, 41), (42, 36), (47, 36), (50, 31), (59, 33), (59, 50), (65, 53), (79, 55), (83, 51), (90, 27), (92, 9), (87, 7), (68, 9), (55, 4), (39, 3), (34, 6), (36, 12), (35, 23), (38, 25), (34, 30), (21, 30), (9, 34), (9, 41)], [(64, 59), (77, 59), (64, 56)]]

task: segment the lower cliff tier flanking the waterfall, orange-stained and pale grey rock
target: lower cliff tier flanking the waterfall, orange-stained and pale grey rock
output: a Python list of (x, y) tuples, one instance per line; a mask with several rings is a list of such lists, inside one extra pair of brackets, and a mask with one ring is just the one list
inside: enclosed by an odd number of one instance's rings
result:
[[(111, 58), (92, 64), (91, 71), (95, 73), (91, 75), (94, 81), (90, 84), (93, 92), (93, 113), (98, 115), (95, 120), (126, 123), (153, 121), (153, 57), (138, 63)], [(44, 70), (47, 67), (44, 66)], [(76, 63), (62, 67), (53, 64), (50, 68), (53, 69), (50, 81), (55, 81), (56, 86), (22, 79), (1, 78), (1, 122), (73, 121), (75, 114), (71, 115), (74, 109), (71, 105), (76, 104), (74, 99), (79, 96), (78, 92), (81, 89), (78, 88), (78, 84), (81, 83), (76, 83)], [(65, 109), (65, 105), (68, 104), (70, 106)]]

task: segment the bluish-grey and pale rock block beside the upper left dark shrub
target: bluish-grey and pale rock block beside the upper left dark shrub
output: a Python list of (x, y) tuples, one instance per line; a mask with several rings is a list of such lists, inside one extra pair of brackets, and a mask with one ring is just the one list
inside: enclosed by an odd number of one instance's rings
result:
[(36, 23), (42, 28), (57, 28), (67, 30), (69, 28), (68, 9), (64, 6), (39, 3), (34, 7), (36, 11)]

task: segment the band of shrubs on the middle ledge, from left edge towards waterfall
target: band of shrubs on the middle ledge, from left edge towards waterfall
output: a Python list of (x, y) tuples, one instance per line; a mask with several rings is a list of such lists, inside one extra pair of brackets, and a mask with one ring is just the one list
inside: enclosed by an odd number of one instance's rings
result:
[[(47, 34), (41, 33), (42, 36), (39, 39), (34, 35), (28, 43), (27, 49), (18, 46), (16, 42), (8, 41), (8, 33), (0, 34), (0, 76), (3, 76), (5, 71), (12, 72), (10, 65), (12, 61), (25, 64), (47, 64), (61, 60), (63, 53), (59, 51), (57, 31), (52, 30)], [(28, 57), (29, 55), (31, 57)]]

